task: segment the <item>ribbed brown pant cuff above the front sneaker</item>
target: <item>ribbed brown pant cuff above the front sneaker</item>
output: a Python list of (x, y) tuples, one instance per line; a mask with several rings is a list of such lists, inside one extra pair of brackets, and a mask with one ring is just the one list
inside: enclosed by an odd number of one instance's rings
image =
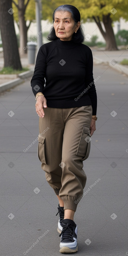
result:
[(60, 196), (64, 202), (64, 210), (69, 209), (76, 211), (77, 208), (77, 197), (74, 196)]

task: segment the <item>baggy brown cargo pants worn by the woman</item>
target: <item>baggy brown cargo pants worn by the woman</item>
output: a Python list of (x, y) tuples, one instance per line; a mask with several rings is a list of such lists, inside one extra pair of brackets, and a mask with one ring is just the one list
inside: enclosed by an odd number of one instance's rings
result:
[(92, 106), (47, 107), (44, 113), (44, 118), (39, 118), (38, 157), (64, 209), (76, 211), (86, 183), (82, 168), (90, 152)]

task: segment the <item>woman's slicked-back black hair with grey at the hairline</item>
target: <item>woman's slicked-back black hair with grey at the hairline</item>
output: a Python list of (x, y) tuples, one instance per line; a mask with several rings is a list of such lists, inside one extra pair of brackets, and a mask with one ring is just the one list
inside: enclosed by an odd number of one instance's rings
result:
[[(76, 24), (77, 24), (78, 21), (81, 20), (80, 12), (75, 6), (73, 6), (73, 5), (60, 5), (53, 12), (53, 16), (52, 16), (53, 17), (53, 23), (54, 23), (54, 18), (55, 18), (55, 12), (57, 12), (57, 11), (68, 11), (68, 12), (70, 12), (72, 17), (73, 17), (73, 20), (75, 21)], [(58, 37), (55, 35), (55, 29), (54, 29), (53, 26), (50, 30), (49, 35), (47, 36), (47, 39), (50, 40), (50, 41), (58, 39)], [(84, 41), (84, 33), (83, 33), (81, 25), (78, 28), (77, 33), (75, 33), (75, 32), (73, 33), (72, 40), (75, 43), (82, 43)]]

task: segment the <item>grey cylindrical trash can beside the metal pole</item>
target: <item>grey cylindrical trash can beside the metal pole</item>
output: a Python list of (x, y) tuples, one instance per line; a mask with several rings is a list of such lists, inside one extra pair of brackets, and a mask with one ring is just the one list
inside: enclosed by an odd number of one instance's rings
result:
[(37, 43), (28, 42), (28, 63), (35, 64), (35, 53)]

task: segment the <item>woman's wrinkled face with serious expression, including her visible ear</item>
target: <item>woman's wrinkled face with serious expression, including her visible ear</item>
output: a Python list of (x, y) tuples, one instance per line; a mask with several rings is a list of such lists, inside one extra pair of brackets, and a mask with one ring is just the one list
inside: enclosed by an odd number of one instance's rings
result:
[(57, 11), (55, 12), (53, 25), (55, 35), (62, 41), (69, 41), (72, 39), (73, 33), (80, 27), (80, 21), (75, 24), (70, 12)]

